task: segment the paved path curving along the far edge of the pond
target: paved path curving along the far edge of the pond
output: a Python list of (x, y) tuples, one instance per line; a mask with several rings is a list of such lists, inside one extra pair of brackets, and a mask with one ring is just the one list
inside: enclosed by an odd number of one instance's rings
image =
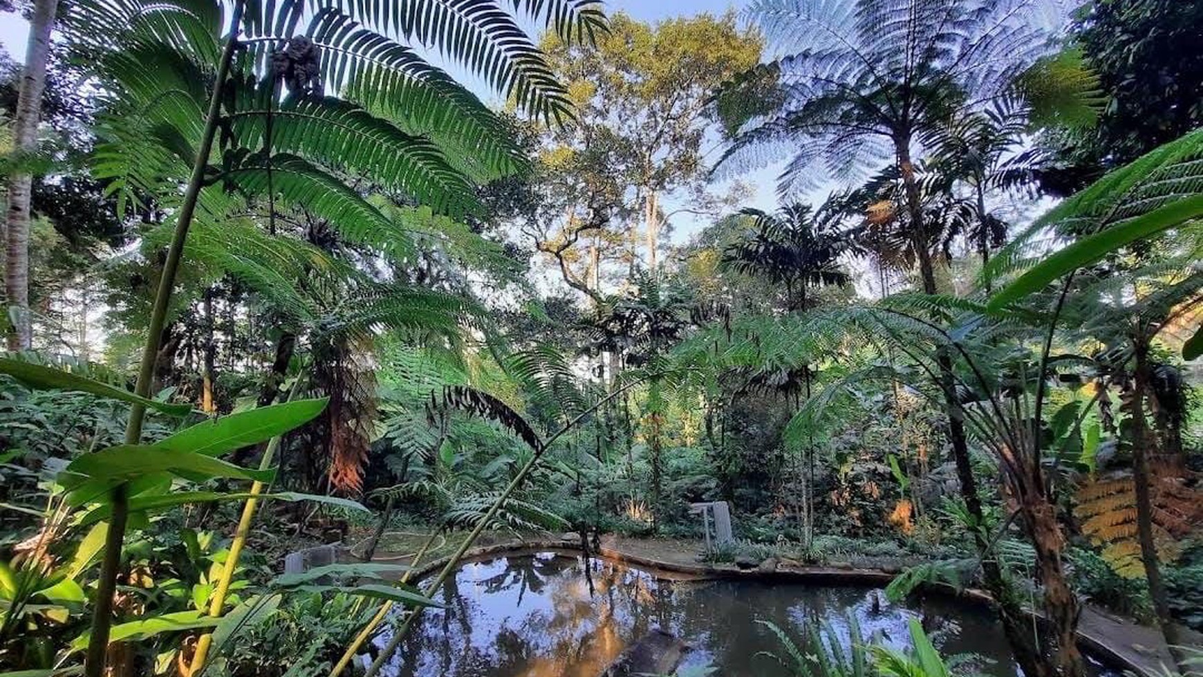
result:
[[(466, 559), (500, 557), (514, 550), (573, 550), (580, 548), (576, 536), (562, 540), (557, 539), (502, 539), (490, 538), (492, 542), (469, 550)], [(396, 547), (393, 544), (390, 546)], [(397, 548), (404, 551), (405, 548)], [(397, 552), (395, 550), (393, 552)], [(751, 570), (741, 570), (733, 564), (717, 564), (699, 562), (698, 553), (703, 550), (701, 542), (686, 539), (632, 539), (623, 536), (606, 535), (602, 538), (600, 554), (609, 559), (627, 562), (642, 568), (659, 569), (691, 577), (778, 577), (784, 580), (814, 580), (814, 581), (845, 581), (857, 583), (872, 583), (885, 586), (899, 571), (896, 562), (873, 564), (871, 560), (860, 558), (853, 563), (842, 565), (813, 566), (790, 560), (777, 562), (775, 566), (758, 566)], [(444, 554), (442, 552), (435, 554)], [(391, 562), (404, 563), (404, 558), (397, 558), (389, 552), (378, 552), (377, 560), (389, 559)], [(422, 572), (433, 571), (446, 563), (445, 558), (427, 560), (421, 566)], [(771, 563), (770, 563), (771, 564)], [(989, 598), (977, 590), (967, 590), (965, 594), (983, 600)], [(1081, 611), (1081, 619), (1078, 624), (1078, 635), (1084, 646), (1096, 654), (1112, 654), (1119, 660), (1137, 667), (1145, 677), (1165, 673), (1166, 666), (1173, 665), (1173, 658), (1161, 633), (1154, 628), (1140, 625), (1131, 619), (1108, 613), (1094, 606), (1086, 606)]]

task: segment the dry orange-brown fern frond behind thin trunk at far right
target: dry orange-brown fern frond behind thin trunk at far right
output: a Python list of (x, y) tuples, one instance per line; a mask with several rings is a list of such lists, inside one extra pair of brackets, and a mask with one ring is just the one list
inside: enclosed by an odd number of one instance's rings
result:
[[(1152, 536), (1157, 557), (1173, 562), (1180, 541), (1203, 521), (1203, 492), (1187, 486), (1181, 469), (1155, 464), (1151, 469)], [(1103, 548), (1103, 559), (1120, 576), (1144, 576), (1137, 540), (1136, 486), (1131, 471), (1112, 473), (1078, 489), (1074, 515), (1081, 531)]]

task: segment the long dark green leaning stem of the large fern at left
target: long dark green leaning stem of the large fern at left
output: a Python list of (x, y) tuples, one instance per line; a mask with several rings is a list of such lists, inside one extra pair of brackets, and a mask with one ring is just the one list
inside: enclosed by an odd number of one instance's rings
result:
[[(230, 75), (230, 64), (233, 61), (233, 53), (238, 43), (238, 24), (242, 23), (242, 2), (235, 2), (230, 36), (226, 38), (225, 48), (221, 52), (221, 60), (218, 63), (217, 78), (213, 84), (213, 94), (209, 97), (209, 109), (205, 119), (205, 132), (201, 136), (196, 161), (192, 164), (192, 174), (188, 180), (188, 189), (184, 191), (184, 202), (179, 208), (179, 220), (176, 222), (176, 232), (171, 245), (167, 248), (167, 260), (162, 266), (162, 275), (159, 279), (159, 291), (155, 295), (147, 343), (142, 350), (142, 363), (138, 367), (138, 380), (134, 390), (141, 397), (150, 396), (150, 382), (154, 378), (155, 361), (159, 355), (159, 340), (162, 337), (162, 327), (167, 319), (167, 307), (171, 304), (172, 291), (176, 286), (176, 274), (179, 272), (179, 262), (184, 254), (184, 243), (188, 240), (188, 228), (192, 225), (192, 214), (196, 212), (196, 202), (200, 198), (201, 185), (205, 180), (205, 170), (209, 161), (209, 153), (213, 150), (213, 139), (217, 136), (218, 121), (221, 117), (221, 97), (226, 78)], [(130, 420), (125, 427), (126, 444), (138, 444), (141, 441), (142, 422), (146, 418), (146, 406), (142, 404), (134, 404), (130, 408)], [(117, 592), (117, 574), (122, 565), (122, 545), (125, 540), (125, 527), (130, 516), (129, 487), (126, 485), (118, 485), (113, 489), (112, 504), (112, 517), (108, 522), (108, 531), (105, 535), (105, 558), (101, 562), (100, 580), (96, 586), (96, 608), (91, 618), (91, 639), (88, 643), (84, 677), (101, 677), (105, 672), (108, 635), (113, 625), (113, 594)]]

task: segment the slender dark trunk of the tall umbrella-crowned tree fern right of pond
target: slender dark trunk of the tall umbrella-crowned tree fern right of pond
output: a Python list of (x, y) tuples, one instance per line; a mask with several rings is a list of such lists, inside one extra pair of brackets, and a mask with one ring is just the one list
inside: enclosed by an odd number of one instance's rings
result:
[[(911, 234), (914, 242), (915, 255), (919, 260), (923, 291), (924, 293), (936, 293), (936, 272), (931, 261), (926, 227), (923, 221), (923, 201), (919, 195), (919, 184), (915, 180), (914, 165), (911, 161), (909, 137), (896, 139), (895, 150), (899, 170), (902, 174), (902, 185), (906, 189), (907, 212), (911, 218)], [(985, 517), (982, 510), (982, 501), (978, 499), (977, 481), (973, 477), (973, 467), (970, 461), (968, 438), (965, 433), (965, 411), (961, 408), (960, 398), (956, 396), (953, 361), (948, 351), (941, 349), (936, 354), (936, 362), (940, 366), (938, 385), (944, 393), (944, 403), (948, 406), (948, 439), (953, 447), (953, 462), (956, 465), (956, 479), (960, 483), (961, 498), (965, 500), (965, 507), (970, 517), (977, 524), (984, 524)], [(1036, 646), (1031, 634), (1024, 626), (1026, 616), (1015, 601), (1015, 595), (1011, 586), (1003, 578), (997, 560), (990, 556), (990, 542), (982, 529), (972, 529), (972, 536), (974, 546), (982, 556), (983, 580), (995, 604), (998, 606), (1003, 634), (1011, 645), (1015, 663), (1019, 664), (1026, 677), (1049, 677), (1053, 675), (1053, 669), (1044, 660), (1043, 652)]]

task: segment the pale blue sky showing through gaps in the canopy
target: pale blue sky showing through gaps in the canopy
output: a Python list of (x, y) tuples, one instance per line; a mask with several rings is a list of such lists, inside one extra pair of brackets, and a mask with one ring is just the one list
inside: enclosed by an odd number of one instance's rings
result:
[[(739, 12), (746, 4), (747, 0), (608, 0), (605, 7), (608, 13), (623, 11), (638, 19), (656, 22), (682, 14), (700, 14), (703, 12), (722, 14), (733, 8)], [(2, 46), (4, 49), (8, 52), (10, 57), (17, 61), (24, 60), (25, 41), (28, 40), (28, 24), (19, 14), (0, 14), (0, 46)], [(456, 69), (449, 70), (452, 75), (458, 75), (455, 72)], [(481, 95), (486, 99), (486, 101), (490, 100), (484, 91), (478, 93), (478, 95)], [(710, 159), (716, 159), (721, 153), (721, 149), (715, 146), (717, 146), (717, 139), (710, 147), (704, 148), (704, 150), (707, 152), (707, 158)], [(776, 208), (775, 168), (753, 172), (741, 177), (740, 180), (742, 180), (752, 190), (745, 200), (745, 206), (757, 207), (765, 210), (772, 210)], [(713, 190), (718, 194), (723, 194), (728, 186), (729, 184), (727, 183), (716, 184)], [(664, 206), (665, 212), (672, 212), (683, 206), (680, 201), (672, 200), (671, 196), (664, 198), (662, 204)], [(671, 242), (674, 244), (683, 244), (692, 234), (697, 233), (711, 221), (712, 219), (709, 216), (678, 214), (672, 219)]]

